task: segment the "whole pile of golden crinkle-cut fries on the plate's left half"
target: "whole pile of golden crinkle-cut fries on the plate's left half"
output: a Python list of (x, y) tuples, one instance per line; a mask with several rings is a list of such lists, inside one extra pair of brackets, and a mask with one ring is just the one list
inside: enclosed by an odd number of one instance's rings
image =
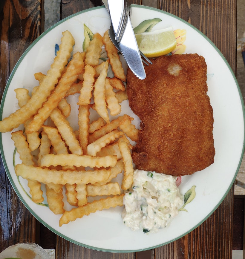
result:
[[(1, 132), (24, 125), (24, 130), (11, 133), (22, 160), (15, 166), (16, 175), (27, 179), (35, 203), (44, 201), (41, 183), (45, 184), (50, 210), (62, 214), (60, 226), (97, 210), (123, 206), (124, 190), (133, 182), (129, 138), (138, 139), (133, 118), (117, 116), (120, 103), (127, 99), (126, 78), (108, 31), (103, 36), (94, 34), (86, 51), (73, 54), (72, 34), (68, 30), (62, 34), (47, 74), (34, 74), (39, 85), (32, 93), (15, 89), (20, 108), (0, 121)], [(106, 60), (100, 59), (102, 46)], [(109, 66), (112, 78), (108, 77)], [(75, 131), (67, 119), (71, 105), (66, 98), (76, 93)], [(91, 109), (98, 114), (94, 121)], [(110, 121), (109, 114), (117, 118)], [(115, 181), (120, 173), (121, 183)], [(74, 206), (70, 211), (64, 209), (63, 189), (67, 202)], [(106, 197), (88, 203), (88, 197), (102, 195)]]

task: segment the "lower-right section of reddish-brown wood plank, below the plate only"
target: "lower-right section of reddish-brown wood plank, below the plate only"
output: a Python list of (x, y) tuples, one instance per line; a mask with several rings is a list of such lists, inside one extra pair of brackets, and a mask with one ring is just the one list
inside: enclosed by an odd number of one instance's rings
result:
[[(232, 222), (230, 211), (234, 186), (218, 209), (199, 227), (184, 237), (155, 249), (155, 259), (230, 259), (232, 258)], [(212, 242), (210, 242), (212, 240)]]

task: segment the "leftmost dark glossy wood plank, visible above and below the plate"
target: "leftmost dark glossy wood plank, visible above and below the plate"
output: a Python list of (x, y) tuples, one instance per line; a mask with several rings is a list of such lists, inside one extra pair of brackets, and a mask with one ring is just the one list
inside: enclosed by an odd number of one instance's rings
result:
[[(42, 0), (7, 0), (0, 14), (0, 96), (16, 62), (41, 34)], [(17, 87), (17, 86), (16, 86)], [(0, 252), (16, 242), (36, 242), (36, 219), (15, 194), (0, 161)]]

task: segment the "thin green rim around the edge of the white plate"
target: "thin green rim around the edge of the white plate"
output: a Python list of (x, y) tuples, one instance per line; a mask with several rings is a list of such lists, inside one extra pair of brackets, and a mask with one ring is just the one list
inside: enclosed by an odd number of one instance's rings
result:
[[(159, 12), (159, 13), (163, 13), (167, 16), (171, 16), (181, 22), (183, 22), (184, 24), (188, 25), (189, 27), (191, 27), (192, 29), (194, 29), (195, 31), (197, 31), (201, 36), (203, 36), (204, 39), (206, 39), (211, 45), (212, 47), (214, 47), (214, 49), (218, 52), (218, 54), (220, 55), (220, 57), (223, 59), (223, 61), (225, 62), (226, 66), (229, 68), (229, 71), (230, 73), (232, 74), (233, 76), (233, 79), (236, 83), (236, 86), (237, 86), (237, 90), (238, 90), (238, 93), (239, 93), (239, 96), (240, 96), (240, 100), (241, 100), (241, 105), (242, 105), (242, 111), (243, 111), (243, 118), (245, 120), (245, 109), (244, 109), (244, 101), (243, 101), (243, 96), (241, 94), (241, 90), (240, 90), (240, 87), (238, 85), (238, 82), (237, 82), (237, 79), (235, 77), (235, 74), (233, 73), (229, 63), (227, 62), (227, 60), (225, 59), (225, 57), (223, 56), (223, 54), (220, 52), (220, 50), (214, 45), (214, 43), (207, 37), (205, 36), (202, 32), (200, 32), (200, 30), (198, 30), (197, 28), (195, 28), (193, 25), (189, 24), (188, 22), (186, 22), (185, 20), (171, 14), (171, 13), (167, 13), (165, 11), (162, 11), (160, 9), (157, 9), (157, 8), (153, 8), (153, 7), (148, 7), (148, 6), (143, 6), (143, 5), (137, 5), (137, 4), (132, 4), (133, 7), (137, 7), (137, 8), (143, 8), (143, 9), (148, 9), (148, 10), (154, 10), (156, 12)], [(4, 89), (4, 93), (3, 93), (3, 97), (2, 97), (2, 100), (1, 100), (1, 105), (0, 105), (0, 119), (2, 119), (2, 113), (3, 113), (3, 106), (4, 106), (4, 102), (5, 102), (5, 98), (6, 98), (6, 94), (7, 94), (7, 90), (9, 88), (9, 85), (10, 85), (10, 82), (12, 80), (12, 77), (15, 73), (15, 71), (17, 70), (17, 68), (19, 67), (20, 63), (22, 62), (23, 58), (27, 55), (27, 53), (30, 51), (30, 49), (40, 40), (42, 39), (42, 37), (44, 37), (50, 30), (53, 30), (53, 28), (55, 28), (56, 26), (58, 26), (59, 24), (62, 24), (63, 22), (69, 20), (70, 18), (74, 17), (74, 16), (77, 16), (77, 15), (80, 15), (82, 13), (86, 13), (86, 12), (89, 12), (89, 11), (92, 11), (92, 10), (96, 10), (96, 9), (100, 9), (100, 8), (105, 8), (104, 6), (99, 6), (99, 7), (93, 7), (93, 8), (90, 8), (90, 9), (86, 9), (86, 10), (83, 10), (81, 12), (78, 12), (78, 13), (75, 13), (71, 16), (68, 16), (66, 17), (65, 19), (57, 22), (56, 24), (54, 24), (53, 26), (51, 26), (49, 29), (47, 29), (44, 33), (42, 33), (25, 51), (24, 53), (22, 54), (22, 56), (20, 57), (19, 61), (16, 63), (15, 67), (13, 68), (13, 71), (12, 73), (10, 74), (10, 77), (7, 81), (7, 84), (6, 84), (6, 87)], [(44, 222), (35, 212), (33, 212), (33, 210), (27, 205), (27, 203), (25, 202), (24, 198), (21, 196), (21, 194), (19, 193), (18, 191), (18, 188), (13, 184), (13, 179), (11, 177), (11, 174), (10, 174), (10, 171), (7, 167), (7, 164), (6, 164), (6, 160), (5, 160), (5, 157), (4, 157), (4, 150), (3, 150), (3, 145), (2, 145), (2, 133), (0, 134), (0, 151), (1, 151), (1, 157), (2, 157), (2, 161), (3, 161), (3, 165), (4, 165), (4, 168), (6, 170), (6, 173), (7, 173), (7, 176), (10, 180), (10, 183), (11, 185), (13, 186), (16, 194), (18, 195), (19, 199), (22, 201), (22, 203), (25, 205), (25, 207), (30, 211), (31, 214), (33, 214), (34, 217), (36, 217), (36, 219), (38, 219), (44, 226), (46, 226), (48, 229), (50, 229), (52, 232), (54, 232), (56, 235), (59, 235), (60, 237), (72, 242), (72, 243), (75, 243), (77, 245), (80, 245), (80, 246), (83, 246), (83, 247), (86, 247), (86, 248), (89, 248), (89, 249), (94, 249), (94, 250), (97, 250), (97, 251), (102, 251), (102, 252), (117, 252), (117, 253), (129, 253), (129, 252), (140, 252), (140, 251), (145, 251), (145, 250), (150, 250), (150, 249), (154, 249), (154, 248), (157, 248), (157, 247), (160, 247), (160, 246), (163, 246), (163, 245), (166, 245), (166, 244), (169, 244), (185, 235), (187, 235), (188, 233), (190, 233), (192, 230), (196, 229), (198, 226), (200, 226), (205, 220), (207, 220), (212, 214), (213, 212), (218, 208), (218, 206), (220, 205), (220, 203), (222, 203), (222, 201), (224, 200), (224, 198), (226, 197), (226, 195), (228, 194), (230, 188), (232, 187), (234, 181), (235, 181), (235, 178), (238, 174), (238, 171), (239, 171), (239, 168), (240, 168), (240, 165), (241, 165), (241, 162), (242, 162), (242, 158), (243, 158), (243, 153), (244, 153), (244, 145), (245, 145), (245, 135), (244, 135), (244, 139), (243, 139), (243, 148), (242, 148), (242, 152), (241, 152), (241, 157), (240, 157), (240, 160), (239, 160), (239, 163), (238, 163), (238, 166), (237, 166), (237, 170), (236, 170), (236, 173), (234, 174), (234, 177), (233, 177), (233, 180), (232, 182), (230, 183), (229, 185), (229, 188), (227, 189), (226, 193), (223, 195), (222, 199), (218, 202), (218, 204), (215, 206), (215, 208), (203, 219), (201, 220), (197, 225), (195, 225), (192, 229), (189, 229), (189, 231), (185, 232), (184, 234), (172, 239), (172, 240), (169, 240), (165, 243), (162, 243), (162, 244), (158, 244), (156, 246), (151, 246), (151, 247), (146, 247), (144, 249), (137, 249), (137, 250), (112, 250), (112, 249), (102, 249), (102, 248), (98, 248), (98, 247), (94, 247), (94, 246), (88, 246), (86, 244), (82, 244), (82, 243), (79, 243), (77, 242), (76, 240), (73, 240), (69, 237), (66, 237), (65, 235), (62, 235), (61, 233), (59, 233), (58, 231), (56, 231), (55, 229), (53, 229), (51, 226), (49, 226), (46, 222)]]

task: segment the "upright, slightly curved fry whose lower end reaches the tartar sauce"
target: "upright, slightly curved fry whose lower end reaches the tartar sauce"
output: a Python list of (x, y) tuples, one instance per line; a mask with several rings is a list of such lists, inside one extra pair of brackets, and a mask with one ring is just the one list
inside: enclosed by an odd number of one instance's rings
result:
[(123, 142), (123, 141), (119, 142), (118, 147), (122, 154), (122, 159), (124, 163), (124, 176), (123, 176), (121, 188), (123, 190), (128, 190), (133, 184), (133, 174), (134, 174), (131, 152), (126, 142)]

